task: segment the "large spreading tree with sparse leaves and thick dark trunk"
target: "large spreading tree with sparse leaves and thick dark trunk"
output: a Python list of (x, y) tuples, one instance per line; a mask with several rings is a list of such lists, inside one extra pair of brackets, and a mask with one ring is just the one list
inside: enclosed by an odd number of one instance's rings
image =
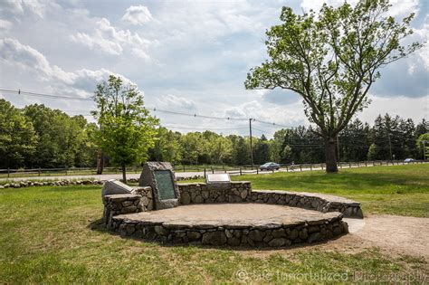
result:
[(378, 70), (422, 46), (403, 45), (413, 33), (414, 14), (401, 22), (388, 16), (386, 0), (361, 0), (356, 6), (323, 5), (316, 14), (281, 11), (282, 24), (267, 31), (270, 61), (247, 75), (247, 89), (292, 90), (303, 98), (314, 131), (324, 140), (327, 172), (337, 172), (338, 132), (369, 104), (367, 93)]

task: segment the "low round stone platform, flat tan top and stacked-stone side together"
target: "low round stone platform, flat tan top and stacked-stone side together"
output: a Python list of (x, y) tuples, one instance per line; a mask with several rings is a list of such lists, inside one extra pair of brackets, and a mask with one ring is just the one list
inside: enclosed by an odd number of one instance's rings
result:
[(279, 247), (348, 233), (341, 219), (338, 212), (275, 204), (190, 204), (119, 214), (111, 226), (123, 236), (160, 242)]

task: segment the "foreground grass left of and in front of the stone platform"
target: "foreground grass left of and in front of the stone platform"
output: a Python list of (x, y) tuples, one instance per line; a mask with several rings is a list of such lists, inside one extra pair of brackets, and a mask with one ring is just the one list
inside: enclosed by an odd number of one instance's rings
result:
[(295, 283), (287, 274), (299, 273), (303, 282), (310, 275), (301, 273), (310, 272), (348, 280), (354, 271), (427, 273), (422, 259), (386, 257), (374, 249), (348, 254), (302, 248), (261, 257), (122, 239), (94, 226), (102, 213), (100, 186), (2, 189), (0, 211), (0, 283), (237, 282), (237, 271), (257, 283)]

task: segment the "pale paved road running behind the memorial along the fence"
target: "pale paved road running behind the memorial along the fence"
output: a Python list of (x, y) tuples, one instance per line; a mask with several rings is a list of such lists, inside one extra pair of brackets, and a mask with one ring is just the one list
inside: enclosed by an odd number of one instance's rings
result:
[[(427, 162), (426, 162), (427, 163)], [(372, 167), (372, 164), (367, 164), (368, 167)], [(389, 165), (392, 166), (392, 165)], [(348, 168), (349, 166), (342, 166), (342, 168)], [(365, 165), (361, 165), (361, 166), (351, 166), (352, 168), (358, 168), (358, 167), (365, 167)], [(320, 167), (313, 167), (312, 170), (321, 170)], [(286, 168), (281, 168), (280, 170), (277, 170), (275, 172), (286, 172), (289, 171), (291, 172), (291, 169), (289, 168), (288, 170)], [(310, 171), (310, 168), (302, 168), (302, 171)], [(300, 167), (299, 166), (295, 166), (295, 169), (293, 170), (293, 172), (300, 172)], [(207, 172), (210, 173), (210, 172)], [(222, 171), (216, 171), (215, 173), (222, 173)], [(231, 176), (237, 176), (239, 175), (239, 171), (238, 170), (234, 170), (234, 171), (228, 171), (228, 173), (230, 173)], [(243, 174), (246, 173), (250, 173), (250, 174), (255, 174), (255, 170), (251, 171), (251, 170), (243, 170)], [(259, 171), (259, 174), (263, 174), (263, 175), (267, 175), (267, 174), (271, 174), (272, 171)], [(204, 172), (200, 171), (200, 172), (176, 172), (176, 176), (177, 177), (193, 177), (193, 176), (204, 176)], [(139, 178), (140, 174), (136, 174), (136, 173), (129, 173), (127, 174), (128, 178)], [(100, 180), (109, 180), (109, 179), (120, 179), (122, 178), (121, 174), (109, 174), (109, 175), (90, 175), (90, 176), (32, 176), (32, 177), (10, 177), (10, 178), (0, 178), (0, 181), (22, 181), (22, 180), (31, 180), (31, 179), (37, 179), (37, 180), (53, 180), (53, 179), (82, 179), (82, 178), (95, 178), (95, 179), (100, 179)]]

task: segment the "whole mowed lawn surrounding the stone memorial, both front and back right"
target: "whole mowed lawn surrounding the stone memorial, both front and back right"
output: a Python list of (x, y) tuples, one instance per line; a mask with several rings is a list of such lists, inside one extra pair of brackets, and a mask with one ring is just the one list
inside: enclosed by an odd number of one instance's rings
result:
[[(362, 201), (364, 211), (370, 213), (427, 216), (428, 172), (428, 166), (419, 165), (350, 169), (333, 176), (309, 172), (236, 178), (253, 181), (254, 189), (348, 196)], [(387, 256), (377, 249), (346, 253), (311, 246), (294, 251), (262, 250), (261, 254), (253, 249), (167, 246), (124, 239), (98, 224), (100, 189), (100, 185), (0, 189), (0, 283), (244, 280), (295, 284), (354, 281), (356, 272), (369, 277), (429, 273), (422, 259)]]

